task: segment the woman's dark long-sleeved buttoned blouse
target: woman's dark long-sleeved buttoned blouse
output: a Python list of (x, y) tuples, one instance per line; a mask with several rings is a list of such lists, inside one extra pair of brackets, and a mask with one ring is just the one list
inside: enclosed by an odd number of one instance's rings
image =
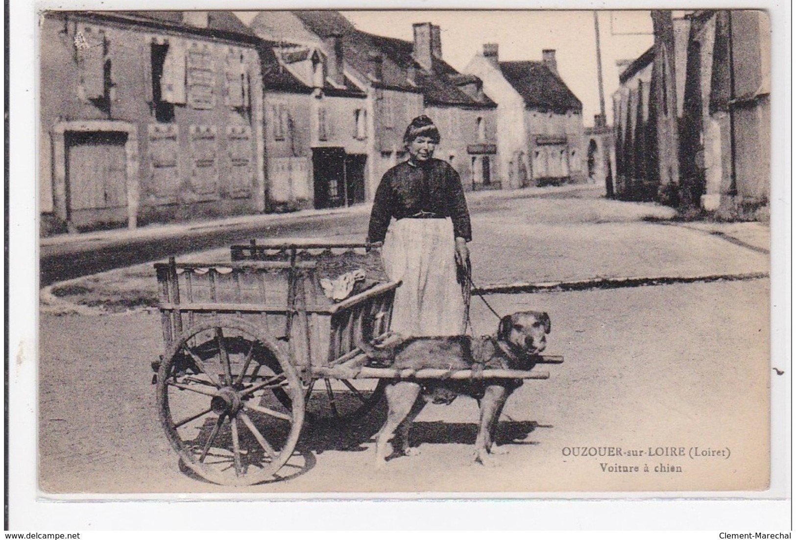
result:
[(470, 213), (456, 170), (441, 159), (402, 162), (384, 173), (370, 213), (368, 241), (384, 241), (390, 219), (418, 212), (450, 217), (456, 237), (472, 240)]

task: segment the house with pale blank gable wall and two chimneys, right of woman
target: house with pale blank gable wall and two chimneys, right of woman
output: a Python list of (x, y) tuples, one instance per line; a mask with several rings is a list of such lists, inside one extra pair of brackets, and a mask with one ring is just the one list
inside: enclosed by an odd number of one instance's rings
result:
[(561, 80), (556, 51), (542, 61), (500, 61), (497, 44), (464, 68), (497, 103), (498, 170), (506, 187), (583, 182), (583, 105)]

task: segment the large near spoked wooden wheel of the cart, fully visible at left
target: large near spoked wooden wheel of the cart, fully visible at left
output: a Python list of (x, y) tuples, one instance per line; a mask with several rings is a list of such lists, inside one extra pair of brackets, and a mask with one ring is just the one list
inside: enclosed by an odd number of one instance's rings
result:
[[(272, 479), (304, 421), (301, 382), (279, 347), (240, 319), (184, 331), (158, 373), (163, 428), (197, 475), (229, 486)], [(298, 406), (285, 407), (286, 400)]]

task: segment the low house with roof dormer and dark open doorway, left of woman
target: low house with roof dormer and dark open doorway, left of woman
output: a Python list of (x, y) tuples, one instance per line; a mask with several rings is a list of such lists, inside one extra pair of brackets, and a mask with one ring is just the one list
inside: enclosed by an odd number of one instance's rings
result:
[(331, 39), (328, 56), (317, 45), (260, 50), (270, 209), (365, 202), (367, 94), (345, 77), (339, 37)]

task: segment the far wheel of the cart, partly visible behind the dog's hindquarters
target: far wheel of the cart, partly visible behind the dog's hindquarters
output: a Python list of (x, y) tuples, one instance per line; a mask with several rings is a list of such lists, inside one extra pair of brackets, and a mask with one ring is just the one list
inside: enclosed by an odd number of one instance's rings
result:
[(386, 385), (382, 379), (314, 379), (304, 397), (307, 417), (357, 421), (378, 405)]

